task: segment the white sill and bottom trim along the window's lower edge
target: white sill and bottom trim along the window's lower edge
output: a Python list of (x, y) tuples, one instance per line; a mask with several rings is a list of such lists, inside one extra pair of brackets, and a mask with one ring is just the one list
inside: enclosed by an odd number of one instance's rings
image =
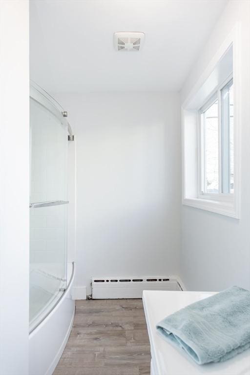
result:
[(239, 219), (239, 214), (235, 208), (234, 200), (232, 202), (208, 200), (202, 198), (184, 198), (183, 205), (194, 208), (204, 209), (206, 211), (218, 213)]

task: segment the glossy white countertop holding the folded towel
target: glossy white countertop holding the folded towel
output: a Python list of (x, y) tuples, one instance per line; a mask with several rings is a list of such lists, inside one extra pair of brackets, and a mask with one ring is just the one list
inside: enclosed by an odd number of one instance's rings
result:
[(190, 303), (209, 297), (214, 292), (144, 291), (143, 303), (150, 340), (154, 375), (249, 375), (250, 350), (225, 362), (196, 364), (184, 350), (165, 341), (156, 324), (167, 315)]

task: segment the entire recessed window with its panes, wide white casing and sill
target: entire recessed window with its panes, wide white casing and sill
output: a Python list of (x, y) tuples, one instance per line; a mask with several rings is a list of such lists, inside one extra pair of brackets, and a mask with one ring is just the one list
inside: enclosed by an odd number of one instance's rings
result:
[(238, 26), (182, 103), (182, 203), (240, 218)]

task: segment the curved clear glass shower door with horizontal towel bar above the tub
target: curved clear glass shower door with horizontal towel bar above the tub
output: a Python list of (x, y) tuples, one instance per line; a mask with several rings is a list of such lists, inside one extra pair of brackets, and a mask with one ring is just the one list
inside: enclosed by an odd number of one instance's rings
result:
[(43, 104), (30, 98), (30, 331), (53, 309), (67, 276), (67, 127)]

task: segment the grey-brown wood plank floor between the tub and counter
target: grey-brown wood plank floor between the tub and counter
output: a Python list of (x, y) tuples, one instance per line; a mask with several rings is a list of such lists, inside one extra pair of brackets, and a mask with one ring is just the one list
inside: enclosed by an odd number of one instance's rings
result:
[(150, 358), (141, 299), (81, 300), (53, 375), (149, 375)]

